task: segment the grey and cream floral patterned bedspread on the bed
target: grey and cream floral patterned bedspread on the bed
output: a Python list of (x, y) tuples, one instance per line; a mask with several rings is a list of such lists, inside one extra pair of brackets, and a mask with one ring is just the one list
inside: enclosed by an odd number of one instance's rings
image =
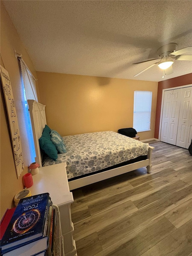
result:
[(63, 140), (67, 152), (58, 154), (56, 161), (46, 156), (43, 166), (66, 162), (68, 179), (147, 155), (149, 149), (148, 143), (114, 131), (70, 135)]

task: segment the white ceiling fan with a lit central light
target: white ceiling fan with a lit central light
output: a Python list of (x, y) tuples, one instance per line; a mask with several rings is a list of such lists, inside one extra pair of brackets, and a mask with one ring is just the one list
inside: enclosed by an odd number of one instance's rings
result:
[[(188, 46), (178, 51), (176, 51), (176, 47), (177, 47), (176, 43), (170, 43), (160, 47), (157, 50), (157, 53), (159, 56), (159, 58), (157, 59), (159, 61), (143, 69), (138, 74), (134, 75), (134, 77), (137, 77), (138, 75), (148, 70), (149, 68), (152, 68), (156, 64), (158, 64), (159, 68), (163, 69), (163, 71), (165, 72), (165, 75), (170, 75), (173, 73), (172, 64), (174, 63), (174, 60), (191, 60), (192, 61), (192, 55), (182, 55), (183, 53), (187, 53), (187, 52), (192, 53), (192, 46)], [(133, 64), (140, 64), (143, 62), (148, 62), (148, 61), (157, 60), (157, 59), (144, 60), (144, 61), (133, 63)], [(164, 77), (164, 74), (163, 74), (163, 77)]]

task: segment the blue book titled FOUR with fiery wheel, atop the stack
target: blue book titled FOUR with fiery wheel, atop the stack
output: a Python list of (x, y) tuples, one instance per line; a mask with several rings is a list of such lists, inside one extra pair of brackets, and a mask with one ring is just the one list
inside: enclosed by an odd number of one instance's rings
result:
[(22, 245), (44, 236), (49, 193), (22, 198), (1, 240), (1, 249)]

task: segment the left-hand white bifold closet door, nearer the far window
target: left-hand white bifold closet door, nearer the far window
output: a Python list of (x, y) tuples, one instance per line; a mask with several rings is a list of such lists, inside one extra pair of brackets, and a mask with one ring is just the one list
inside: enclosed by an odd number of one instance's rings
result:
[(176, 145), (182, 89), (164, 92), (160, 140)]

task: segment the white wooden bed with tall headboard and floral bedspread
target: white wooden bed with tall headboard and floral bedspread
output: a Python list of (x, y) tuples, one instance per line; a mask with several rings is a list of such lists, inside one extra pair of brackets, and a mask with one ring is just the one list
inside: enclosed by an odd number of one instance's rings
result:
[(45, 105), (28, 100), (35, 143), (36, 159), (40, 166), (66, 162), (70, 190), (108, 179), (137, 168), (146, 167), (150, 173), (153, 147), (148, 143), (113, 131), (64, 136), (67, 152), (58, 154), (56, 161), (43, 156), (39, 138), (46, 125)]

